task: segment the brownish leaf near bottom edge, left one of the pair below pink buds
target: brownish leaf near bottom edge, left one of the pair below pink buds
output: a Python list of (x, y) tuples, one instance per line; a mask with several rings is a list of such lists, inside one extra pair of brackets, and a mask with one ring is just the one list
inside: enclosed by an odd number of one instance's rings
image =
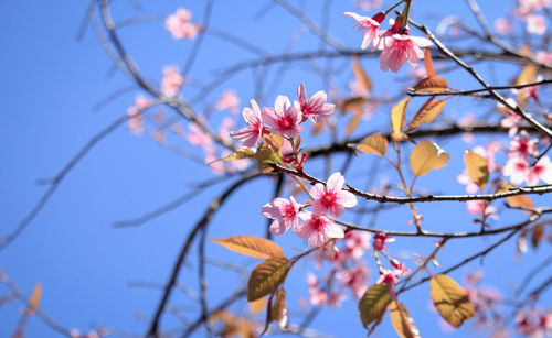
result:
[(375, 284), (370, 286), (359, 302), (360, 320), (362, 320), (362, 325), (367, 327), (373, 321), (381, 320), (389, 303), (391, 303), (389, 285)]

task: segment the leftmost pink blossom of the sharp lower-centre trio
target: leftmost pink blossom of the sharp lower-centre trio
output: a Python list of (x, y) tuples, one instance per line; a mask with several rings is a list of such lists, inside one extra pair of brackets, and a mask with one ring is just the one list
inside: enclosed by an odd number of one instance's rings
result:
[(263, 206), (263, 216), (274, 219), (269, 228), (272, 235), (282, 235), (291, 226), (297, 228), (301, 205), (293, 196), (289, 199), (278, 197)]

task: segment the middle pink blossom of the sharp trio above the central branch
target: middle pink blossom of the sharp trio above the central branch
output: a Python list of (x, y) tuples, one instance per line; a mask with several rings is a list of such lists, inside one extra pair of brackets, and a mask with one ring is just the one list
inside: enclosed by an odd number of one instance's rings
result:
[(263, 108), (263, 119), (270, 126), (272, 132), (278, 135), (295, 138), (304, 127), (300, 126), (302, 115), (299, 109), (291, 106), (287, 96), (278, 95), (274, 108)]

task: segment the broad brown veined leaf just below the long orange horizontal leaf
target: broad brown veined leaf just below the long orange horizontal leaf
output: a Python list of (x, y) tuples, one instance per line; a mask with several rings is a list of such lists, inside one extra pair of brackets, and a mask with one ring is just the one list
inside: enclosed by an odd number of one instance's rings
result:
[(273, 257), (253, 269), (247, 282), (247, 302), (256, 301), (274, 292), (286, 279), (289, 261)]

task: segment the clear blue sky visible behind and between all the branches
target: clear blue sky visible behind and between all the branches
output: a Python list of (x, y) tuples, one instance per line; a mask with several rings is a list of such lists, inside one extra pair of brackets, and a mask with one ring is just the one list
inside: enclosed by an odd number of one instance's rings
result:
[[(145, 14), (167, 15), (182, 6), (192, 10), (194, 20), (201, 20), (203, 1), (150, 1), (141, 3), (140, 9), (131, 6), (132, 1), (117, 1), (114, 17), (118, 20)], [(301, 32), (300, 23), (280, 8), (272, 8), (261, 18), (258, 12), (269, 1), (215, 1), (212, 26), (231, 32), (250, 43), (259, 45), (270, 53), (280, 53), (288, 43), (291, 33)], [(315, 22), (320, 22), (322, 12), (317, 1), (299, 1), (305, 4)], [(507, 11), (501, 1), (481, 1), (482, 11), (492, 21)], [(39, 181), (54, 176), (65, 163), (100, 129), (126, 113), (139, 90), (131, 90), (100, 110), (94, 107), (109, 94), (126, 88), (131, 83), (123, 75), (114, 73), (112, 62), (102, 50), (91, 25), (81, 40), (75, 36), (82, 24), (87, 3), (64, 1), (52, 4), (44, 1), (3, 1), (0, 2), (0, 44), (2, 45), (0, 74), (2, 81), (2, 133), (0, 142), (0, 235), (8, 233), (29, 212), (46, 186)], [(498, 10), (497, 10), (498, 9)], [(358, 47), (361, 36), (357, 34), (349, 18), (342, 12), (354, 10), (352, 1), (333, 1), (330, 11), (330, 32), (348, 47)], [(427, 22), (435, 28), (435, 18), (458, 15), (468, 24), (474, 20), (460, 1), (435, 8), (435, 1), (416, 1), (414, 19)], [(129, 53), (135, 57), (147, 78), (159, 81), (164, 65), (182, 65), (192, 46), (188, 41), (173, 41), (163, 29), (162, 21), (151, 21), (123, 29), (120, 32)], [(304, 32), (294, 45), (295, 52), (317, 48), (319, 41)], [(191, 76), (200, 84), (213, 80), (221, 69), (236, 62), (254, 59), (255, 56), (240, 48), (206, 36), (203, 47), (192, 68)], [(323, 63), (321, 63), (323, 65)], [(340, 84), (352, 78), (350, 63), (331, 63), (338, 72)], [(378, 69), (376, 61), (364, 61), (363, 66), (374, 78), (378, 92), (395, 92), (400, 86), (394, 76)], [(408, 75), (405, 66), (399, 78)], [(503, 67), (500, 70), (481, 68), (491, 79), (507, 83), (514, 76), (517, 68)], [(264, 72), (259, 69), (258, 72)], [(223, 83), (197, 109), (202, 109), (215, 100), (225, 89), (235, 89), (241, 97), (242, 107), (253, 97), (254, 72), (243, 72)], [(282, 78), (280, 78), (282, 77)], [(278, 94), (295, 96), (300, 81), (306, 83), (308, 92), (327, 89), (320, 78), (306, 64), (294, 64), (287, 72), (261, 73), (259, 80), (272, 84), (278, 79), (276, 90), (264, 98), (263, 103), (270, 105)], [(449, 83), (471, 88), (474, 81), (465, 81), (466, 76), (453, 74)], [(185, 89), (189, 98), (198, 92)], [(453, 100), (447, 106), (449, 116), (463, 116), (467, 111), (480, 112), (469, 100)], [(357, 134), (388, 128), (383, 111), (373, 121), (364, 122)], [(214, 120), (219, 123), (220, 117)], [(344, 126), (348, 117), (339, 121)], [(238, 122), (242, 123), (242, 122)], [(215, 124), (216, 126), (216, 124)], [(309, 138), (309, 145), (321, 144), (325, 138)], [(478, 139), (485, 143), (487, 139)], [(182, 143), (183, 144), (183, 143)], [(422, 177), (418, 186), (446, 193), (463, 193), (464, 187), (456, 183), (456, 175), (463, 170), (461, 154), (467, 145), (459, 140), (442, 144), (452, 160), (449, 165), (434, 175)], [(187, 146), (189, 151), (201, 154), (199, 149)], [(368, 156), (368, 155), (365, 155)], [(337, 171), (342, 157), (336, 160)], [(362, 184), (365, 179), (369, 162), (359, 159), (349, 172), (349, 179)], [(308, 168), (318, 177), (325, 174), (312, 161)], [(95, 325), (102, 325), (124, 331), (142, 332), (150, 315), (157, 306), (160, 292), (156, 288), (129, 287), (129, 281), (164, 283), (174, 262), (178, 250), (189, 229), (205, 209), (211, 198), (230, 182), (205, 189), (195, 198), (172, 212), (156, 218), (140, 227), (114, 229), (117, 220), (141, 216), (158, 206), (181, 196), (187, 188), (199, 181), (213, 177), (203, 166), (192, 163), (173, 152), (157, 145), (147, 137), (129, 133), (126, 127), (118, 128), (97, 146), (66, 176), (55, 195), (18, 240), (0, 252), (0, 269), (7, 273), (25, 293), (32, 291), (36, 282), (43, 284), (41, 308), (56, 321), (68, 328), (87, 331)], [(350, 178), (349, 178), (350, 177)], [(391, 173), (388, 177), (396, 179)], [(250, 233), (262, 236), (265, 220), (259, 215), (263, 204), (272, 197), (268, 178), (261, 178), (246, 185), (225, 205), (213, 219), (208, 237), (223, 238), (233, 235)], [(546, 197), (537, 200), (544, 201)], [(550, 201), (550, 198), (548, 198)], [(474, 229), (470, 217), (464, 212), (464, 205), (450, 203), (435, 208), (422, 205), (420, 210), (427, 215), (427, 225), (436, 230)], [(405, 230), (408, 211), (399, 208), (397, 212), (384, 214), (382, 228)], [(450, 217), (454, 215), (454, 218)], [(512, 214), (511, 221), (519, 219)], [(501, 221), (509, 221), (503, 219)], [(505, 225), (497, 222), (497, 225)], [(288, 254), (306, 248), (305, 242), (285, 235), (276, 239)], [(424, 243), (424, 244), (421, 244)], [(456, 262), (464, 254), (466, 247), (479, 248), (488, 244), (488, 239), (477, 243), (458, 241), (443, 254), (443, 264)], [(471, 247), (474, 246), (474, 247)], [(414, 249), (412, 249), (414, 248)], [(234, 264), (252, 269), (255, 261), (229, 253), (214, 243), (208, 244), (210, 255), (216, 260), (230, 260)], [(431, 241), (399, 240), (390, 253), (402, 255), (410, 250), (421, 253), (431, 251)], [(546, 255), (546, 247), (539, 254), (531, 250), (520, 262), (513, 263), (514, 243), (497, 250), (485, 260), (484, 269), (488, 277), (485, 284), (508, 291), (514, 287), (523, 272), (532, 265), (530, 262)], [(474, 252), (476, 249), (474, 249)], [(197, 249), (192, 249), (190, 262), (193, 262)], [(506, 258), (506, 259), (502, 259)], [(411, 266), (412, 261), (408, 262)], [(374, 266), (372, 266), (373, 269)], [(474, 262), (466, 269), (453, 273), (461, 281), (467, 270), (479, 269)], [(306, 296), (306, 272), (311, 264), (300, 265), (287, 281), (290, 299), (297, 314), (297, 301)], [(229, 294), (227, 286), (238, 285), (240, 277), (216, 266), (209, 266), (209, 284), (212, 293), (210, 304), (214, 305)], [(372, 281), (375, 276), (372, 276)], [(197, 290), (198, 282), (193, 265), (184, 266), (180, 281)], [(0, 296), (7, 290), (0, 287)], [(349, 295), (349, 298), (351, 296)], [(413, 314), (425, 337), (443, 335), (436, 321), (436, 315), (428, 312), (428, 286), (404, 295), (405, 303)], [(546, 302), (548, 301), (548, 302)], [(550, 304), (550, 294), (542, 304)], [(194, 303), (184, 295), (176, 293), (171, 304), (189, 309), (189, 318), (194, 318)], [(244, 302), (234, 309), (245, 308)], [(21, 303), (10, 303), (0, 307), (0, 337), (9, 337), (19, 320)], [(294, 317), (291, 317), (291, 320)], [(297, 320), (298, 321), (298, 320)], [(178, 325), (170, 315), (164, 316), (167, 328)], [(363, 329), (358, 321), (354, 301), (347, 302), (341, 309), (323, 309), (315, 320), (314, 328), (328, 331), (333, 336), (361, 336)], [(380, 336), (392, 335), (392, 328), (384, 321)], [(25, 329), (28, 337), (54, 337), (41, 320), (31, 318)], [(469, 325), (452, 337), (473, 335)]]

